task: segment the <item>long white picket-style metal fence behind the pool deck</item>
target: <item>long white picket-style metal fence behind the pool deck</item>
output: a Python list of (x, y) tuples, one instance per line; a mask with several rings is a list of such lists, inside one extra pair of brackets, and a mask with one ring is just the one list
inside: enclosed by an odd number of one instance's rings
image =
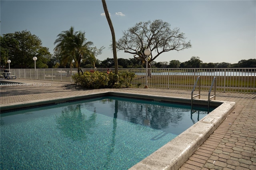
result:
[[(107, 69), (82, 69), (82, 71), (107, 72)], [(114, 72), (114, 69), (109, 69)], [(133, 72), (136, 78), (132, 86), (144, 87), (146, 69), (119, 69), (121, 72)], [(23, 79), (73, 82), (72, 75), (77, 69), (11, 69), (13, 75)], [(212, 79), (216, 77), (216, 91), (256, 93), (256, 68), (151, 68), (149, 69), (148, 87), (167, 89), (189, 89), (200, 76), (201, 90), (208, 91)]]

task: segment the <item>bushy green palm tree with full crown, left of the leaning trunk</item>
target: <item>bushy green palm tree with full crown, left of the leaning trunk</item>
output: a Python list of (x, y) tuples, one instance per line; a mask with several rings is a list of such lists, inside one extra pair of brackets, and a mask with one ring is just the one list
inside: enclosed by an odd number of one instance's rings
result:
[(86, 42), (86, 40), (85, 32), (74, 32), (74, 27), (71, 26), (69, 30), (58, 34), (54, 42), (54, 45), (57, 44), (54, 50), (59, 51), (62, 62), (71, 65), (72, 61), (75, 61), (78, 75), (82, 71), (80, 68), (81, 60), (87, 55), (90, 45), (93, 45), (92, 42)]

